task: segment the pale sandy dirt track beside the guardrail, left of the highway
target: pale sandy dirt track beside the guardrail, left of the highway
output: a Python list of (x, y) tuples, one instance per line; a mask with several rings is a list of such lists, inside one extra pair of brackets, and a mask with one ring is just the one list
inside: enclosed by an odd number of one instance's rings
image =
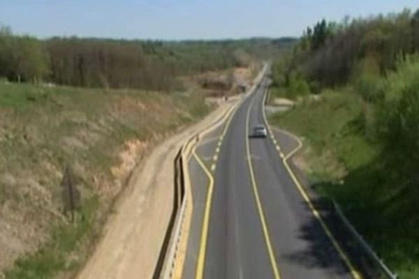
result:
[(79, 279), (152, 277), (172, 209), (173, 158), (188, 137), (230, 104), (223, 103), (203, 121), (170, 137), (135, 169)]

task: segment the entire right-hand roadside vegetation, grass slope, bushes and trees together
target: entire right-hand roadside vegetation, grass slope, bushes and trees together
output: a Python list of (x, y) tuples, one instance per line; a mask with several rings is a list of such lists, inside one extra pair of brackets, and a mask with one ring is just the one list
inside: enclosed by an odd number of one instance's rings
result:
[(274, 63), (271, 116), (304, 137), (313, 187), (336, 199), (400, 278), (419, 277), (419, 11), (318, 22)]

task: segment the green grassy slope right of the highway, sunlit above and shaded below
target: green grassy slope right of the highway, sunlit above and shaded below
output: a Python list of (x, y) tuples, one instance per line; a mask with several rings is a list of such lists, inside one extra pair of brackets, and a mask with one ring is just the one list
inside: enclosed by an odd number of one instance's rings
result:
[(406, 192), (402, 166), (369, 139), (362, 107), (358, 95), (328, 91), (270, 122), (304, 137), (302, 156), (317, 192), (337, 200), (400, 278), (419, 278), (418, 197)]

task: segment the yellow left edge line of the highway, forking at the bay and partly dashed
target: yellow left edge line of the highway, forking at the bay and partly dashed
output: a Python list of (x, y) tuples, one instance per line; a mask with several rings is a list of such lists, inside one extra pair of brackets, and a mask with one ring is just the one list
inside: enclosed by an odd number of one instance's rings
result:
[[(219, 145), (221, 146), (221, 142), (224, 139), (224, 136), (227, 133), (228, 126), (230, 126), (231, 120), (233, 119), (233, 116), (235, 114), (235, 108), (230, 112), (230, 119), (228, 119), (228, 122), (226, 123), (226, 126), (224, 127), (223, 134), (220, 137)], [(211, 214), (211, 205), (212, 205), (212, 193), (214, 188), (214, 178), (212, 177), (211, 172), (208, 171), (207, 167), (205, 167), (205, 164), (202, 160), (200, 160), (199, 156), (196, 154), (195, 149), (193, 149), (193, 157), (196, 158), (198, 161), (200, 167), (203, 168), (205, 174), (207, 174), (209, 183), (208, 183), (208, 193), (207, 193), (207, 201), (205, 202), (205, 213), (204, 213), (204, 219), (203, 219), (203, 226), (202, 226), (202, 232), (201, 232), (201, 238), (200, 238), (200, 248), (199, 248), (199, 254), (198, 254), (198, 262), (196, 264), (196, 279), (202, 279), (204, 275), (204, 268), (205, 268), (205, 257), (207, 252), (207, 241), (208, 241), (208, 226), (210, 223), (210, 214)], [(214, 167), (214, 168), (213, 168)], [(214, 172), (216, 165), (212, 164), (211, 169)]]

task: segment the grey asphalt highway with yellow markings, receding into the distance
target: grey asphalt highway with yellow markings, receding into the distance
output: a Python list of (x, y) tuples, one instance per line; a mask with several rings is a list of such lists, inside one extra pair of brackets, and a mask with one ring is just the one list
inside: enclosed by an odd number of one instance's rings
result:
[(182, 277), (360, 278), (295, 185), (281, 158), (287, 151), (270, 135), (249, 137), (265, 124), (266, 86), (264, 79), (189, 163), (194, 209)]

